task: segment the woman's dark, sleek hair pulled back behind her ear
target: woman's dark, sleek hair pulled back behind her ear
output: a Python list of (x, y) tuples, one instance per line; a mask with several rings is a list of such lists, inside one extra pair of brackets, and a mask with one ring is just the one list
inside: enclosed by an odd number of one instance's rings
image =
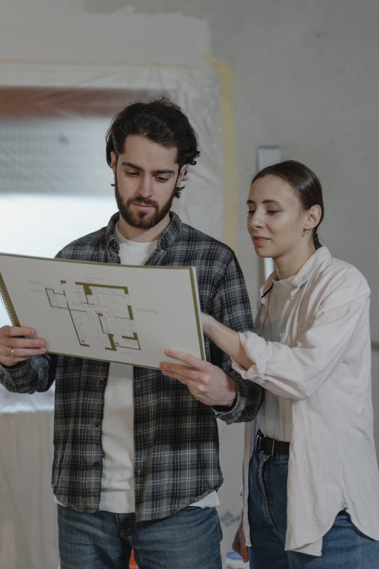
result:
[(310, 209), (313, 205), (320, 206), (320, 221), (316, 227), (313, 228), (314, 246), (316, 249), (319, 249), (321, 244), (318, 240), (317, 229), (324, 217), (324, 202), (322, 199), (321, 184), (317, 176), (301, 162), (285, 160), (285, 162), (279, 162), (278, 164), (273, 164), (272, 166), (267, 166), (263, 168), (263, 170), (260, 170), (258, 174), (254, 176), (251, 183), (268, 175), (277, 176), (277, 178), (288, 182), (291, 188), (297, 193), (303, 209)]

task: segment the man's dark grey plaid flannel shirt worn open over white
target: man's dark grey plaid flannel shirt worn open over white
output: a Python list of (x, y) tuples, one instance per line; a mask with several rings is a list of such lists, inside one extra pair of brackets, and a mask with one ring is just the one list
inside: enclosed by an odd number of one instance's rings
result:
[[(57, 257), (119, 263), (114, 236), (118, 217), (116, 213), (106, 228), (65, 246)], [(252, 330), (245, 282), (233, 251), (182, 224), (175, 213), (170, 212), (170, 217), (146, 265), (195, 266), (202, 311), (238, 331)], [(218, 489), (223, 479), (216, 416), (228, 423), (243, 421), (259, 409), (261, 387), (238, 376), (226, 354), (207, 338), (205, 349), (207, 360), (235, 378), (238, 395), (230, 411), (203, 405), (186, 386), (159, 370), (134, 367), (138, 521), (170, 516)], [(45, 391), (55, 381), (52, 487), (62, 504), (81, 512), (96, 512), (99, 505), (108, 370), (107, 362), (53, 354), (0, 368), (0, 382), (10, 391)]]

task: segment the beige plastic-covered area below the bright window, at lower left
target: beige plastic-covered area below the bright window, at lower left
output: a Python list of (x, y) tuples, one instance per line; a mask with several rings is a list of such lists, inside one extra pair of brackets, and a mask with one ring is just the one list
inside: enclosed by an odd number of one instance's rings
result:
[(52, 411), (0, 414), (0, 567), (56, 569)]

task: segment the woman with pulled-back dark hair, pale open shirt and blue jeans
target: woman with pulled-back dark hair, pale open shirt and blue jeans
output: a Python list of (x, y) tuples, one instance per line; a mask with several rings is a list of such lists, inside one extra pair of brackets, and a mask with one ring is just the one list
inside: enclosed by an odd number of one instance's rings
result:
[[(322, 191), (303, 164), (264, 168), (247, 205), (255, 251), (275, 265), (260, 291), (256, 333), (202, 319), (241, 376), (265, 388), (245, 436), (250, 567), (379, 567), (368, 284), (320, 245)], [(194, 385), (206, 384), (201, 362), (166, 354), (189, 364), (162, 367), (196, 395)]]

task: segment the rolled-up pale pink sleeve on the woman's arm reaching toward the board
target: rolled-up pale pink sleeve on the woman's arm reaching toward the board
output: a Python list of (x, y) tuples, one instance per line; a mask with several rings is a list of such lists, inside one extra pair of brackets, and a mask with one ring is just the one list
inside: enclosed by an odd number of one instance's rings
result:
[(293, 347), (242, 332), (240, 342), (252, 365), (244, 369), (232, 362), (233, 368), (241, 377), (281, 397), (309, 397), (349, 357), (349, 349), (357, 351), (369, 344), (369, 296), (360, 273), (341, 275), (321, 300), (310, 327), (297, 330)]

